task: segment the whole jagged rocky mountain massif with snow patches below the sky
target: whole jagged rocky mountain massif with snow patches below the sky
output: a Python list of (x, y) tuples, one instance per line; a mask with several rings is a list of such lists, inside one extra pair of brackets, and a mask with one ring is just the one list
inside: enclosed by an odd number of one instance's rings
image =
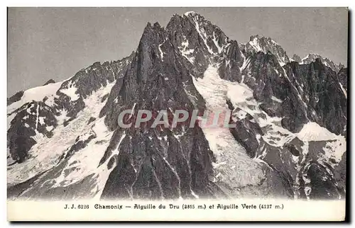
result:
[[(8, 98), (8, 198), (345, 198), (346, 84), (196, 12), (148, 23), (129, 57)], [(119, 125), (181, 109), (236, 127)]]

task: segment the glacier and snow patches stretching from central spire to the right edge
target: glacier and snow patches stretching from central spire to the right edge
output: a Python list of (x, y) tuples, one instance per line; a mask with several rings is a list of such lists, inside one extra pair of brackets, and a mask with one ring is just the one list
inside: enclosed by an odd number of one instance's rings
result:
[[(271, 146), (282, 149), (287, 142), (298, 137), (305, 142), (302, 153), (307, 154), (307, 142), (333, 140), (327, 142), (327, 146), (324, 147), (326, 152), (324, 159), (334, 158), (337, 162), (340, 161), (342, 154), (346, 151), (346, 139), (342, 135), (335, 135), (315, 122), (308, 122), (298, 133), (286, 130), (280, 124), (282, 118), (270, 117), (258, 108), (259, 103), (253, 98), (253, 91), (248, 86), (221, 79), (217, 69), (217, 64), (210, 64), (202, 79), (193, 78), (197, 91), (206, 101), (207, 113), (228, 110), (226, 101), (229, 100), (235, 108), (241, 109), (239, 113), (236, 113), (239, 120), (245, 118), (249, 113), (260, 127), (268, 127), (269, 130), (264, 132), (263, 136), (258, 137), (263, 137), (264, 141)], [(273, 98), (273, 100), (280, 102), (278, 98)], [(231, 135), (228, 128), (202, 127), (202, 130), (209, 142), (210, 149), (217, 158), (217, 162), (214, 164), (215, 181), (223, 181), (231, 187), (239, 188), (248, 185), (256, 186), (263, 180), (262, 166), (265, 161), (262, 159), (266, 154), (251, 159), (246, 154), (244, 147), (241, 147)], [(299, 161), (296, 157), (293, 158), (293, 162), (297, 168)]]

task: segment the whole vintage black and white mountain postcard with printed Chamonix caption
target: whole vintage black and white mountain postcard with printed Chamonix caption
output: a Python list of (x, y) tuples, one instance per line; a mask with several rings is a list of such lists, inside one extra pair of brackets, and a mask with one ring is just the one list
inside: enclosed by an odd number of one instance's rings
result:
[(344, 220), (348, 26), (346, 7), (7, 8), (8, 208)]

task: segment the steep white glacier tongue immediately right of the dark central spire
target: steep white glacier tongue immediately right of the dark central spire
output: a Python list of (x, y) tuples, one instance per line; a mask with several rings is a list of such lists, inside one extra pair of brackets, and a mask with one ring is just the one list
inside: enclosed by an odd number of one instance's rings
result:
[[(207, 113), (229, 110), (226, 105), (226, 100), (232, 98), (229, 97), (229, 91), (240, 93), (241, 96), (233, 96), (235, 103), (244, 102), (250, 96), (244, 85), (221, 79), (217, 69), (217, 65), (210, 64), (202, 79), (194, 79), (197, 91), (206, 101)], [(234, 188), (258, 185), (261, 182), (264, 176), (261, 164), (246, 154), (229, 128), (202, 127), (202, 131), (217, 159), (214, 164), (217, 181), (224, 181)]]

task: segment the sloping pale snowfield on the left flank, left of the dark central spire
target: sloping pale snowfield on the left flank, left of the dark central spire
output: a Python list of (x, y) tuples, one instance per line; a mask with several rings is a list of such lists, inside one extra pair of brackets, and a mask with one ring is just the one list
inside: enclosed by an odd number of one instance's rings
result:
[[(40, 134), (37, 132), (37, 135), (33, 137), (37, 142), (29, 151), (29, 155), (31, 156), (30, 159), (24, 161), (21, 164), (14, 164), (8, 169), (7, 180), (8, 186), (12, 186), (16, 183), (21, 183), (26, 181), (28, 178), (32, 178), (33, 176), (41, 173), (43, 171), (47, 171), (48, 169), (53, 168), (58, 164), (58, 159), (60, 156), (67, 152), (68, 149), (75, 143), (75, 139), (89, 132), (90, 126), (87, 125), (89, 118), (91, 117), (98, 117), (99, 112), (104, 106), (104, 103), (101, 102), (102, 96), (109, 93), (112, 86), (114, 86), (115, 81), (106, 87), (94, 92), (92, 96), (84, 100), (86, 107), (77, 114), (77, 118), (70, 121), (67, 126), (58, 125), (58, 127), (53, 130), (53, 137), (45, 137), (45, 135)], [(39, 97), (38, 97), (39, 99)], [(58, 117), (60, 123), (64, 122), (67, 119), (66, 117), (66, 110), (62, 110), (62, 115)], [(97, 138), (92, 140), (92, 142), (96, 142), (97, 140), (104, 140), (106, 139), (107, 145), (109, 144), (109, 139), (111, 139), (111, 132), (106, 132), (106, 126), (99, 120), (98, 126), (94, 127), (94, 132), (97, 134)], [(106, 132), (106, 133), (105, 133)], [(106, 134), (106, 135), (105, 135)], [(99, 147), (99, 148), (97, 148)], [(81, 158), (77, 158), (78, 163), (75, 165), (76, 167), (80, 167), (80, 172), (84, 174), (86, 171), (87, 173), (90, 172), (90, 169), (93, 167), (97, 167), (99, 161), (97, 159), (101, 159), (102, 155), (105, 152), (105, 144), (89, 144), (89, 147), (84, 148), (84, 152), (77, 152), (78, 156)], [(95, 156), (92, 155), (92, 150), (95, 149), (95, 152), (100, 154), (96, 154)], [(85, 153), (86, 152), (86, 153)], [(72, 159), (75, 159), (73, 156)], [(79, 174), (77, 174), (79, 175)], [(71, 176), (65, 178), (64, 183), (71, 183), (77, 181), (78, 176), (75, 175), (75, 172), (72, 173)], [(83, 178), (84, 176), (82, 176)], [(72, 179), (71, 179), (72, 178)], [(64, 181), (64, 178), (59, 178), (56, 180), (58, 184)]]

